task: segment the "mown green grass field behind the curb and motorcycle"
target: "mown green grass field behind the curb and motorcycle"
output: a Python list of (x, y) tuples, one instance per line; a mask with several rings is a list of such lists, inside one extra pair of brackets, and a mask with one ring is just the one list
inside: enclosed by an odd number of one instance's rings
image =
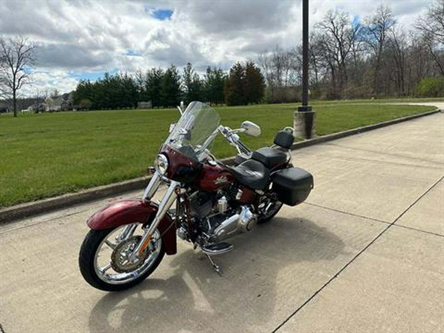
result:
[[(298, 105), (218, 107), (222, 124), (259, 124), (259, 138), (244, 137), (250, 148), (268, 146), (274, 134), (292, 126)], [(350, 128), (433, 110), (427, 106), (384, 105), (368, 101), (312, 103), (316, 133)], [(74, 192), (146, 174), (168, 135), (177, 110), (122, 110), (0, 116), (0, 207)], [(235, 149), (216, 141), (217, 157)]]

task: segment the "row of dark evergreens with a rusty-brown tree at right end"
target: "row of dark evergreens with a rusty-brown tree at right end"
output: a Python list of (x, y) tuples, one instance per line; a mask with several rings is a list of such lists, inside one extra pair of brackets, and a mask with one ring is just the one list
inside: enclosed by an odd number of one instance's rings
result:
[(153, 108), (174, 107), (184, 101), (200, 100), (210, 104), (246, 105), (260, 103), (265, 81), (253, 62), (237, 62), (228, 74), (221, 68), (208, 67), (201, 77), (190, 63), (183, 74), (176, 66), (151, 68), (134, 74), (109, 74), (91, 82), (80, 80), (74, 91), (77, 109), (134, 108), (139, 102), (150, 102)]

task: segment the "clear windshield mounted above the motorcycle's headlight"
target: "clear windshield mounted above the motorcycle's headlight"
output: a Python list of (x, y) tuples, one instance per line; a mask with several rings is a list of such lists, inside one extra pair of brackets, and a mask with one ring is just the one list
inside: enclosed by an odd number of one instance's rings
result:
[(219, 127), (219, 122), (218, 112), (208, 104), (191, 102), (168, 136), (165, 145), (188, 157), (198, 159), (200, 148)]

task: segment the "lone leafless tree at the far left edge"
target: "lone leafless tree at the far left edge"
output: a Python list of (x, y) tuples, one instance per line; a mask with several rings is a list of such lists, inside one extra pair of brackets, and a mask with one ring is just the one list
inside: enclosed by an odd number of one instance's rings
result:
[(0, 37), (0, 90), (12, 95), (14, 117), (17, 116), (17, 92), (29, 84), (36, 60), (36, 45), (25, 37)]

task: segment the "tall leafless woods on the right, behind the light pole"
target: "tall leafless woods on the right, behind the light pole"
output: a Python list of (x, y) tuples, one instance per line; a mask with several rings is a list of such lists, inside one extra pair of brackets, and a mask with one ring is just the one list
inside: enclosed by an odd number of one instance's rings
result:
[[(301, 45), (258, 54), (268, 102), (298, 100), (301, 54)], [(312, 98), (444, 96), (444, 0), (407, 32), (387, 6), (362, 21), (330, 10), (312, 29), (309, 64)]]

